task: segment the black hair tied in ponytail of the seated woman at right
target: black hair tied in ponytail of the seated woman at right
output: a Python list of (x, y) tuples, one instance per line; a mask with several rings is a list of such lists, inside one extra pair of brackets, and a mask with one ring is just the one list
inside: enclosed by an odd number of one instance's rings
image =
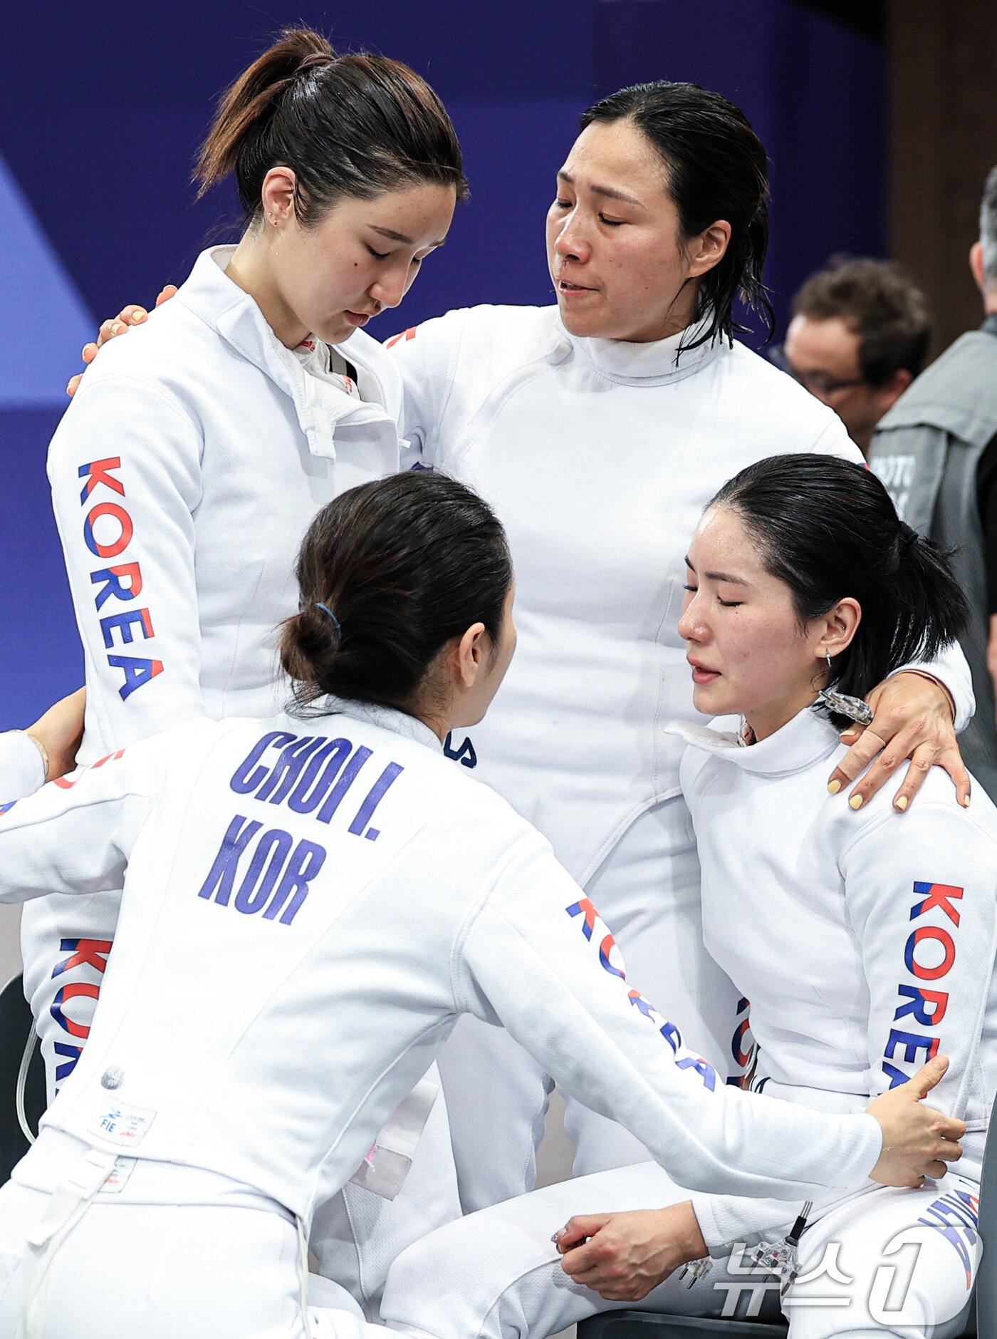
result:
[(933, 660), (966, 625), (947, 556), (899, 520), (863, 466), (769, 457), (728, 479), (709, 506), (739, 514), (765, 570), (790, 588), (802, 627), (858, 600), (862, 621), (822, 687), (865, 698), (901, 665)]

